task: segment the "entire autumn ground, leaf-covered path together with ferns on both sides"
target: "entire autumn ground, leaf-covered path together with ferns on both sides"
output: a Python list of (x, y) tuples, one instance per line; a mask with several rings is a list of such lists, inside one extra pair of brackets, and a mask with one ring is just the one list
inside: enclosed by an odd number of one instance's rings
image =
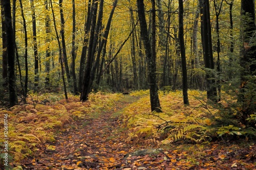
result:
[[(161, 91), (163, 113), (150, 112), (148, 91), (92, 93), (84, 103), (78, 96), (31, 95), (26, 106), (0, 114), (9, 115), (9, 167), (255, 169), (254, 141), (233, 140), (243, 132), (232, 126), (213, 128), (209, 114), (218, 110), (203, 105), (198, 91), (189, 94), (185, 107), (180, 91)], [(208, 135), (214, 133), (220, 137)]]

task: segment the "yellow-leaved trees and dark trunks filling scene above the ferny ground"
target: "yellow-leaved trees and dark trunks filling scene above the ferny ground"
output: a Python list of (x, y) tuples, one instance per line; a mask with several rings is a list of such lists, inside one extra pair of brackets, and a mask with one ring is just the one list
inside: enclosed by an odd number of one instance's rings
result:
[(239, 122), (255, 127), (252, 0), (19, 0), (1, 9), (3, 105), (31, 92), (86, 101), (92, 91), (150, 89), (161, 112), (158, 89), (183, 89), (185, 105), (197, 89), (213, 103), (234, 96)]

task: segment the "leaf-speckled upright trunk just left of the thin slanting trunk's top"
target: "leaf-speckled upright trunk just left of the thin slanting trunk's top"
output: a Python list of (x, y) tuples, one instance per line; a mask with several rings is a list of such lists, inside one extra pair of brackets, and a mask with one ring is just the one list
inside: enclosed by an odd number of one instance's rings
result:
[[(21, 1), (21, 0), (20, 0)], [(49, 16), (49, 7), (48, 7), (48, 0), (45, 0), (45, 8), (46, 8), (46, 21), (45, 21), (45, 26), (46, 26), (46, 63), (45, 63), (45, 71), (46, 71), (46, 88), (50, 90), (50, 16)]]

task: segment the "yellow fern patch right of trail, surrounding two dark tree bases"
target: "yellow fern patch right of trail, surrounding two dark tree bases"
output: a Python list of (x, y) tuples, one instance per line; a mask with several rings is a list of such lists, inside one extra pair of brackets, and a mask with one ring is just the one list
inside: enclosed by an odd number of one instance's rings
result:
[[(147, 94), (147, 95), (146, 95)], [(208, 114), (218, 110), (202, 107), (205, 92), (189, 90), (190, 106), (183, 105), (182, 91), (159, 91), (163, 113), (151, 112), (149, 91), (136, 91), (131, 95), (142, 96), (123, 111), (125, 126), (129, 128), (126, 141), (167, 144), (177, 139), (202, 141), (207, 138), (207, 125), (211, 125)]]

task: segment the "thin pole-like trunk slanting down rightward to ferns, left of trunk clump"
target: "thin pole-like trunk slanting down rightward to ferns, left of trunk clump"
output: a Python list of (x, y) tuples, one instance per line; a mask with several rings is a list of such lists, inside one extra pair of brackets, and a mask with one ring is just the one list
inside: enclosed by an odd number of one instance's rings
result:
[(58, 42), (58, 47), (59, 47), (59, 61), (60, 61), (60, 67), (61, 67), (60, 68), (61, 78), (62, 78), (62, 82), (63, 82), (65, 99), (67, 100), (68, 99), (68, 93), (67, 93), (66, 82), (65, 82), (65, 73), (64, 73), (65, 70), (64, 70), (64, 67), (63, 67), (63, 59), (62, 59), (62, 55), (61, 55), (61, 44), (60, 44), (59, 35), (58, 35), (57, 27), (56, 27), (56, 20), (55, 20), (55, 15), (54, 15), (54, 11), (53, 11), (52, 0), (50, 0), (50, 4), (51, 4), (51, 9), (52, 9), (54, 30), (55, 30), (55, 34), (56, 34), (56, 38), (57, 38), (57, 42)]

